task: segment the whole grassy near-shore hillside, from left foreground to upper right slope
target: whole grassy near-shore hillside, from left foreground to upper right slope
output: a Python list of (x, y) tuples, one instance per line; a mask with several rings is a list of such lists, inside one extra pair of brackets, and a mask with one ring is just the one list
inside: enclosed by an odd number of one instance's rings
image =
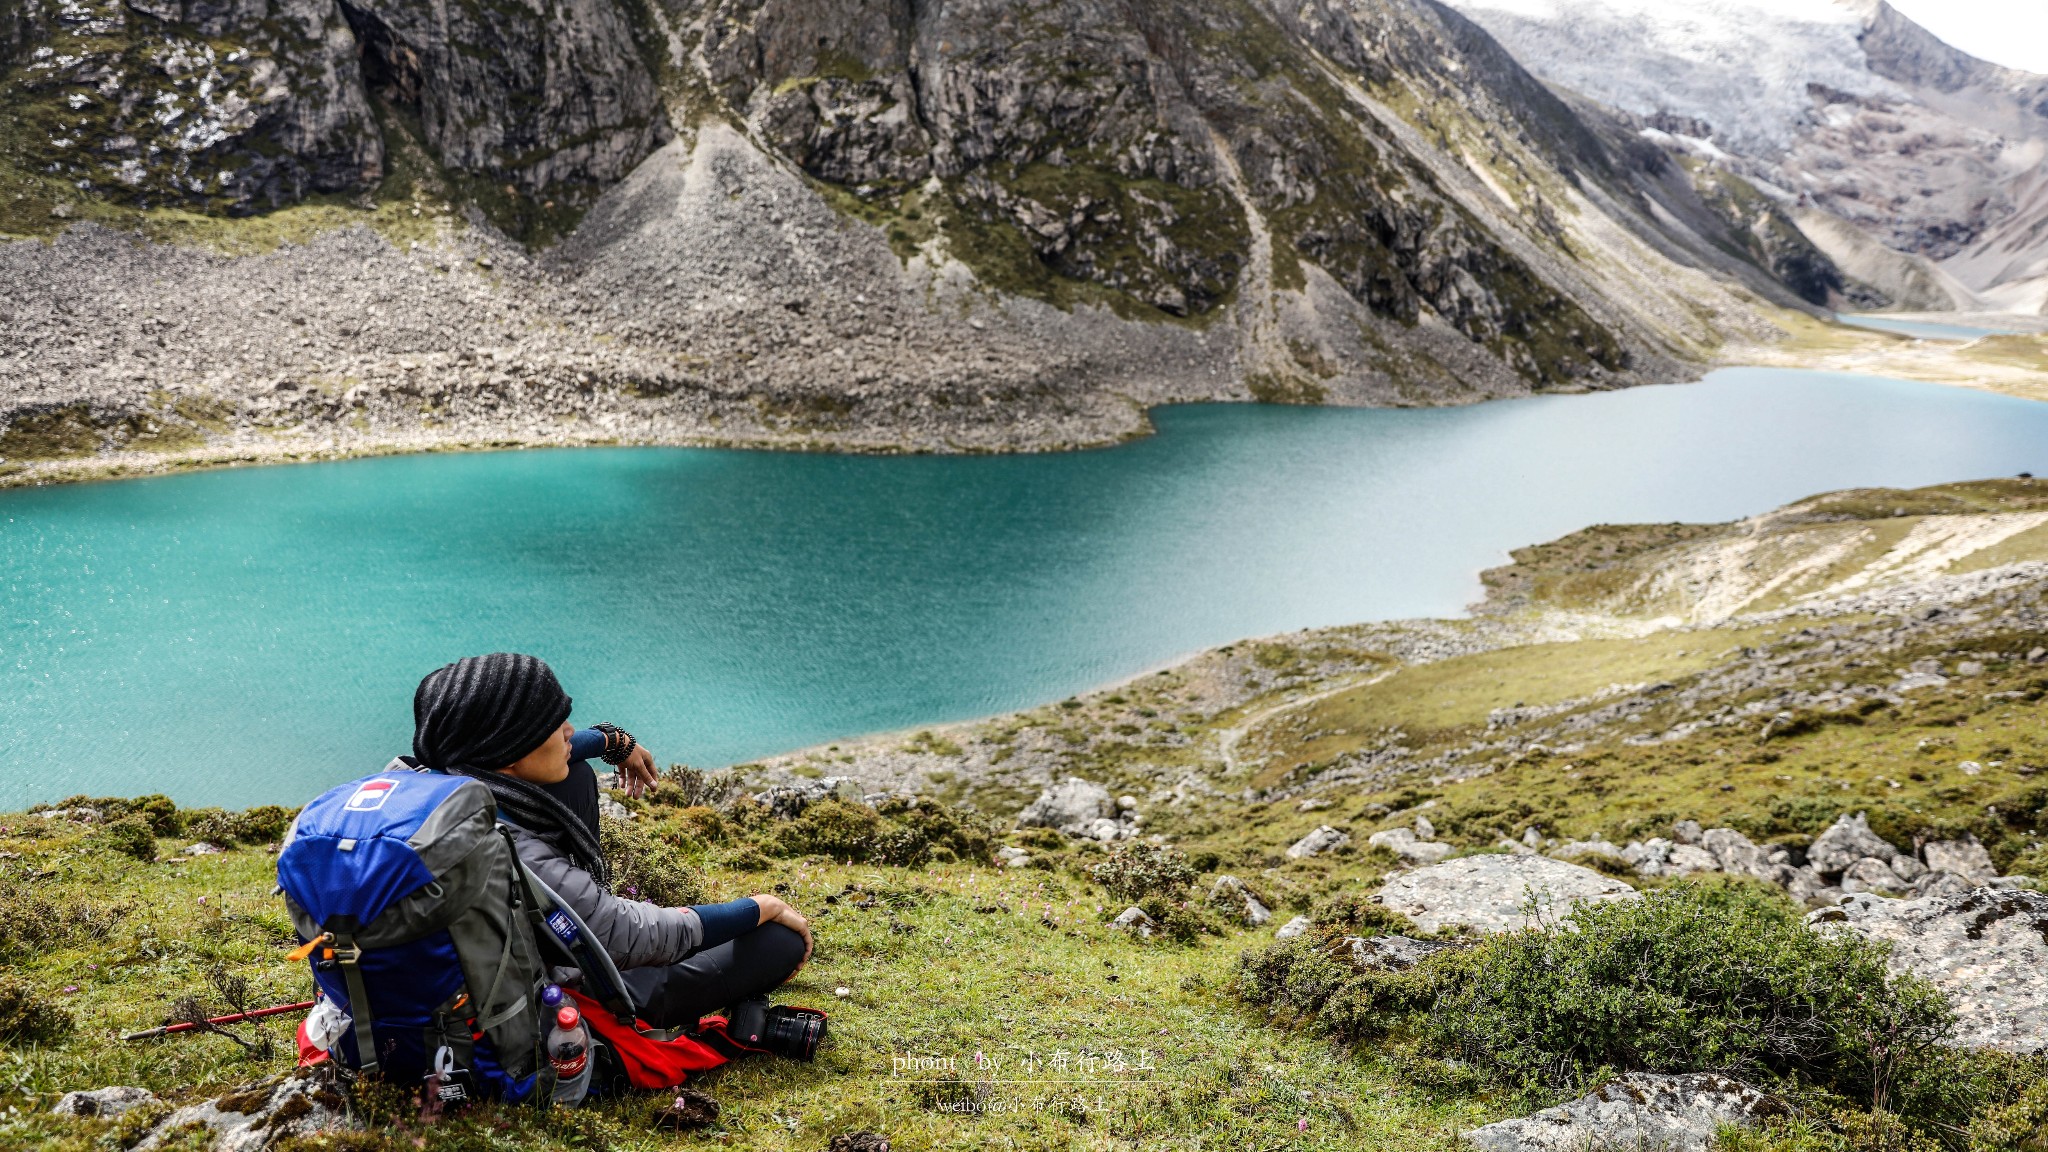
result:
[[(1468, 621), (1245, 642), (1028, 713), (741, 769), (756, 785), (852, 775), (934, 797), (915, 810), (821, 801), (786, 822), (666, 787), (614, 832), (629, 875), (670, 900), (776, 890), (817, 912), (819, 951), (788, 998), (834, 1013), (825, 1056), (707, 1076), (725, 1111), (698, 1134), (653, 1132), (662, 1101), (633, 1099), (567, 1121), (479, 1109), (330, 1144), (823, 1148), (881, 1132), (895, 1148), (1446, 1148), (1542, 1093), (1444, 1062), (1423, 1033), (1337, 1045), (1315, 1013), (1268, 1017), (1243, 992), (1272, 972), (1272, 929), (1300, 912), (1331, 933), (1397, 927), (1358, 920), (1397, 863), (1364, 838), (1417, 812), (1460, 851), (1530, 830), (1620, 842), (1681, 818), (1804, 845), (1837, 814), (1870, 812), (1896, 845), (1968, 830), (2001, 869), (2048, 875), (2048, 537), (2003, 531), (2040, 510), (2048, 482), (1985, 482), (1831, 494), (1735, 525), (1591, 529), (1516, 553)], [(1186, 904), (1151, 904), (1161, 937), (1106, 922), (1130, 900), (1096, 879), (1110, 849), (1010, 830), (1069, 773), (1137, 795), (1145, 832), (1196, 871)], [(203, 1099), (285, 1068), (285, 1025), (244, 1033), (268, 1052), (113, 1035), (184, 996), (219, 1004), (221, 978), (248, 980), (258, 1002), (305, 992), (268, 896), (272, 822), (90, 806), (98, 824), (0, 818), (0, 1027), (16, 1033), (0, 1047), (0, 1107), (20, 1109), (0, 1121), (8, 1148), (84, 1152), (135, 1132), (41, 1117), (66, 1088)], [(1354, 847), (1282, 855), (1319, 824)], [(195, 836), (238, 842), (184, 855)], [(993, 867), (1004, 842), (1032, 863)], [(1276, 920), (1247, 929), (1206, 906), (1221, 873)], [(1780, 908), (1745, 912), (1757, 922), (1796, 912), (1776, 890), (1745, 900)], [(977, 1072), (977, 1052), (1004, 1064)], [(1061, 1054), (1067, 1072), (1053, 1072)], [(1124, 1074), (1106, 1072), (1108, 1054)], [(899, 1074), (899, 1056), (954, 1066)], [(2028, 1068), (1982, 1076), (2023, 1084)], [(1821, 1091), (1802, 1084), (1778, 1086)], [(1827, 1097), (1776, 1144), (1743, 1148), (2019, 1146), (1985, 1144), (1991, 1121), (1911, 1144), (1868, 1107)]]

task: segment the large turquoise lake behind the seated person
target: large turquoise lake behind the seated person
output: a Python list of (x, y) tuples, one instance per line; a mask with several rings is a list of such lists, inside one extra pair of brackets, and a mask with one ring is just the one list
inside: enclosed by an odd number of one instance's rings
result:
[(0, 808), (299, 804), (457, 656), (700, 767), (1059, 699), (1307, 625), (1450, 615), (1509, 547), (2048, 471), (2048, 406), (1872, 377), (1438, 410), (1190, 406), (1116, 449), (563, 449), (0, 492)]

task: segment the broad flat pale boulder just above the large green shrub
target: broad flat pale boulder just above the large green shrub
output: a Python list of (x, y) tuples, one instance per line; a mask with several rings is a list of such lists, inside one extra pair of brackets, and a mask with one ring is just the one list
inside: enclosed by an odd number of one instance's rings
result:
[(1446, 927), (1513, 933), (1554, 924), (1579, 904), (1612, 900), (1636, 900), (1636, 890), (1550, 857), (1460, 857), (1395, 875), (1380, 888), (1380, 904), (1425, 933)]

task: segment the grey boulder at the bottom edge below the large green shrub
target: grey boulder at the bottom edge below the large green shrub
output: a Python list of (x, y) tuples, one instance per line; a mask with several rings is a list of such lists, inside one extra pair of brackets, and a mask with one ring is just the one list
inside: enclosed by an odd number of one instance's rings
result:
[(1554, 1109), (1475, 1127), (1481, 1152), (1708, 1152), (1722, 1125), (1755, 1127), (1782, 1105), (1718, 1076), (1630, 1072)]

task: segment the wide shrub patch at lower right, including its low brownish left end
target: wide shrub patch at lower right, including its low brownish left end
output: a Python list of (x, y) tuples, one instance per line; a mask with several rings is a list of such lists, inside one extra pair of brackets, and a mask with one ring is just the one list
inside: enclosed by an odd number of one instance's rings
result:
[(1620, 1070), (1802, 1082), (1958, 1129), (1987, 1076), (1944, 1047), (1942, 994), (1890, 976), (1884, 947), (1827, 937), (1759, 886), (1681, 881), (1581, 906), (1409, 972), (1366, 970), (1319, 931), (1249, 953), (1237, 992), (1348, 1041), (1411, 1035), (1511, 1091), (1579, 1093)]

